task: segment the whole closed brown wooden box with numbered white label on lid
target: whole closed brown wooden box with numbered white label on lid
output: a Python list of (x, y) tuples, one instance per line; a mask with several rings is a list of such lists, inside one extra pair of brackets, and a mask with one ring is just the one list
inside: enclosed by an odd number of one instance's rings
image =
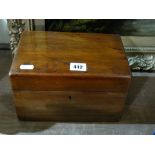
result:
[(118, 35), (24, 32), (10, 69), (22, 120), (117, 121), (131, 79)]

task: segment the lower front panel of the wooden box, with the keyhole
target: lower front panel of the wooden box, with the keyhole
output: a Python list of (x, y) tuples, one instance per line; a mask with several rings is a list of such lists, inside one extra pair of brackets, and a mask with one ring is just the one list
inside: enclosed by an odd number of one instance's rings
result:
[(123, 111), (124, 93), (15, 91), (19, 118), (51, 121), (115, 121)]

